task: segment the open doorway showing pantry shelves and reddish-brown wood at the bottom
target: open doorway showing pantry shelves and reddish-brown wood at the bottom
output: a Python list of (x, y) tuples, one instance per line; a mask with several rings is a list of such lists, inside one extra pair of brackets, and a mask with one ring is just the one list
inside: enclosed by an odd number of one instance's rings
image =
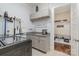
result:
[(71, 5), (54, 9), (54, 50), (71, 55)]

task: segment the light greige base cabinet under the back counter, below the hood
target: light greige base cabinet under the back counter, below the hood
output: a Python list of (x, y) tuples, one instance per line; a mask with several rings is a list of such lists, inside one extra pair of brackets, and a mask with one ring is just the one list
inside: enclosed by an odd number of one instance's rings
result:
[(32, 47), (44, 52), (49, 51), (50, 45), (48, 37), (31, 36), (31, 39), (32, 39)]

